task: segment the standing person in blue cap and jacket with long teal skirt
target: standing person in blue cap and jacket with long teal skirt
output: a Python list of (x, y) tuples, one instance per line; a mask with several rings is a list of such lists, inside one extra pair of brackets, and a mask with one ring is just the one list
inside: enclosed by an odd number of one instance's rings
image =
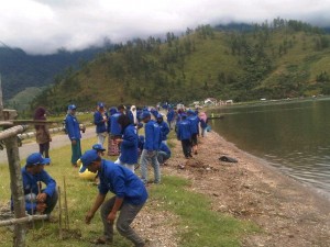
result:
[(77, 160), (81, 156), (81, 134), (79, 122), (76, 117), (76, 109), (77, 106), (75, 104), (68, 105), (67, 114), (65, 117), (65, 128), (67, 131), (69, 139), (72, 141), (72, 165), (74, 167), (78, 167)]

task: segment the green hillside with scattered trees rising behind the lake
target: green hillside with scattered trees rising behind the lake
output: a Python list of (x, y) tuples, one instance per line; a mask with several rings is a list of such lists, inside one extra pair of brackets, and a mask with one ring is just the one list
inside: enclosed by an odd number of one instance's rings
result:
[(206, 97), (234, 101), (330, 94), (330, 37), (299, 21), (251, 29), (187, 29), (166, 41), (136, 38), (57, 77), (32, 104), (63, 112), (97, 101), (146, 104)]

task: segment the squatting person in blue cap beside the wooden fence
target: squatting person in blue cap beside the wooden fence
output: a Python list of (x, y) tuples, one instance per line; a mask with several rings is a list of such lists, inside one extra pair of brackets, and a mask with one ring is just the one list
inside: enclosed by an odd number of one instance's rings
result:
[[(33, 153), (26, 158), (26, 164), (21, 169), (25, 211), (29, 214), (38, 212), (50, 215), (56, 205), (58, 198), (56, 181), (44, 170), (44, 165), (50, 162), (50, 158), (44, 158), (40, 153)], [(42, 182), (46, 184), (45, 189), (41, 188)]]

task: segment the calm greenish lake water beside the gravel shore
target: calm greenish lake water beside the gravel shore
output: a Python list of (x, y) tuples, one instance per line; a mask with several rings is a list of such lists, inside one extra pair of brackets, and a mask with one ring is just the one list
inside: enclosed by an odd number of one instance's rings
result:
[(224, 116), (209, 124), (227, 141), (330, 195), (329, 98), (224, 106), (212, 112)]

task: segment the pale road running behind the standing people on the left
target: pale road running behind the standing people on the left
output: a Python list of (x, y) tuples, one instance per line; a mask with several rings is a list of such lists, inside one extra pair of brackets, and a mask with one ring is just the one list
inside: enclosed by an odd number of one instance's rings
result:
[[(82, 138), (90, 138), (96, 136), (95, 127), (88, 127), (86, 128), (86, 132), (81, 134)], [(33, 151), (38, 151), (38, 145), (35, 143), (35, 137), (32, 138), (33, 142), (23, 144), (22, 147), (20, 147), (20, 158), (24, 159), (28, 157), (29, 154)], [(51, 143), (51, 151), (52, 149), (56, 149), (58, 147), (63, 147), (65, 145), (69, 144), (69, 139), (66, 134), (56, 134), (52, 136), (52, 143)], [(0, 150), (0, 166), (7, 165), (7, 151), (6, 149)]]

